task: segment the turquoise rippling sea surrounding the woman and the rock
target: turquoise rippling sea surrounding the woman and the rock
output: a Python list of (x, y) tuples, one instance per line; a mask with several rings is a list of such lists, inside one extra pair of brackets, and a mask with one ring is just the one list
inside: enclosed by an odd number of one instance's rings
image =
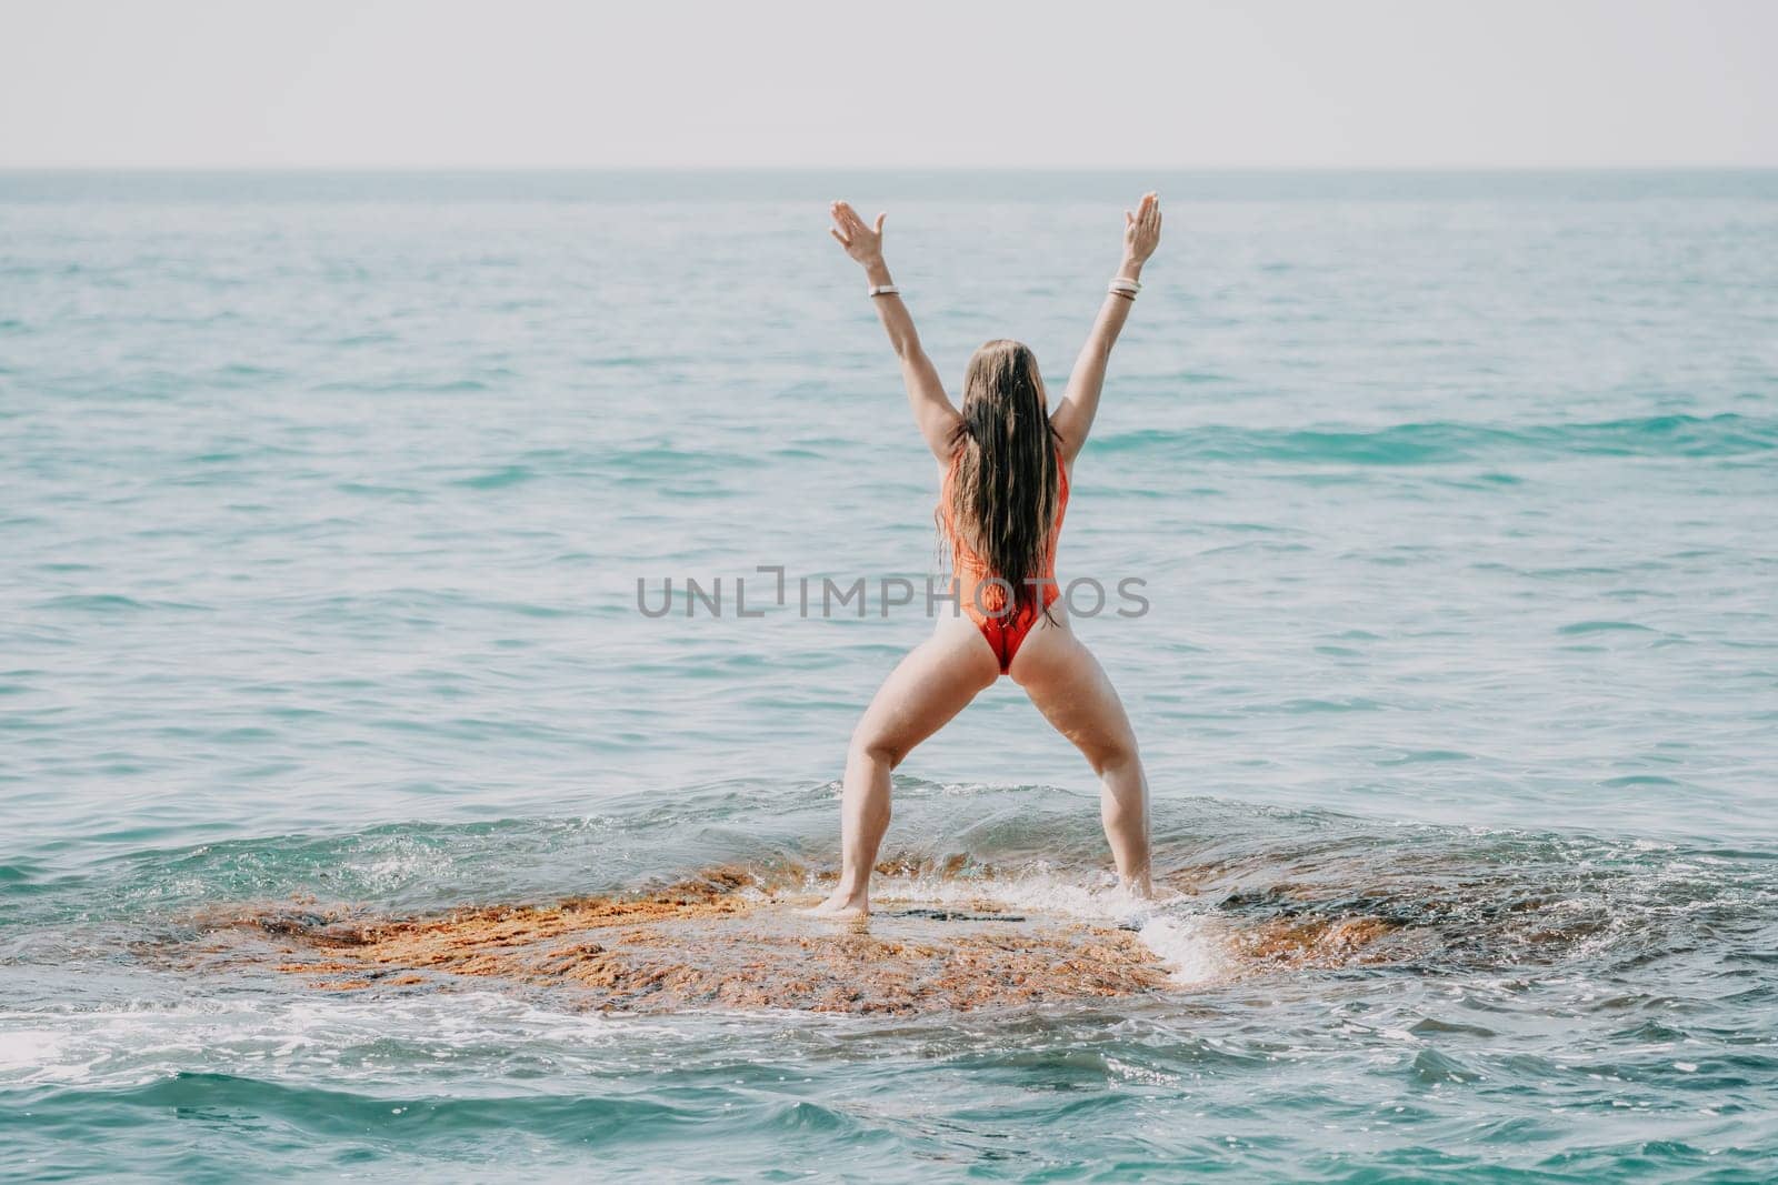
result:
[[(1013, 336), (1060, 391), (1149, 187), (1060, 569), (1145, 581), (1077, 629), (1175, 991), (626, 1016), (169, 956), (832, 872), (930, 622), (683, 595), (932, 570), (827, 201), (889, 211), (948, 378)], [(1774, 801), (1774, 172), (0, 174), (4, 1180), (1766, 1181)], [(885, 856), (1113, 911), (1006, 680)]]

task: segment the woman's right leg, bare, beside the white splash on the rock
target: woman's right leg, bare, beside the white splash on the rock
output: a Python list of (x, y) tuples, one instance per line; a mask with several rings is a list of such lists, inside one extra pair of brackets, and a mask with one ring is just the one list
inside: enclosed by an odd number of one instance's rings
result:
[(1136, 732), (1111, 679), (1074, 636), (1060, 606), (1056, 618), (1056, 625), (1038, 622), (1026, 634), (1012, 661), (1012, 679), (1099, 775), (1099, 817), (1118, 879), (1131, 894), (1150, 897), (1149, 778), (1136, 752)]

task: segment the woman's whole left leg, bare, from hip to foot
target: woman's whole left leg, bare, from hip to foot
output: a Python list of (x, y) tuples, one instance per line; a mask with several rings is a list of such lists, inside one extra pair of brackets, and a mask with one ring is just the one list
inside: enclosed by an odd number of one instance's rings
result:
[(869, 913), (871, 869), (889, 828), (889, 771), (996, 679), (994, 648), (965, 616), (944, 620), (877, 689), (846, 750), (839, 887), (816, 913)]

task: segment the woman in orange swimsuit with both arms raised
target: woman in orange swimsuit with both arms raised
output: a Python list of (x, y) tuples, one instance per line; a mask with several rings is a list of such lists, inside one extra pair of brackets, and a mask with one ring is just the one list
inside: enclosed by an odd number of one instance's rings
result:
[(1136, 734), (1104, 668), (1069, 627), (1067, 602), (1058, 600), (1056, 537), (1074, 460), (1099, 410), (1106, 361), (1140, 290), (1141, 265), (1161, 242), (1159, 201), (1150, 192), (1134, 213), (1125, 211), (1124, 263), (1054, 410), (1031, 350), (999, 339), (969, 359), (958, 412), (884, 265), (884, 215), (869, 226), (843, 201), (830, 213), (829, 233), (864, 266), (871, 302), (901, 359), (914, 421), (944, 467), (937, 517), (967, 616), (941, 615), (932, 638), (901, 659), (859, 720), (846, 750), (839, 885), (814, 911), (869, 913), (871, 869), (889, 826), (889, 771), (1001, 675), (1012, 675), (1086, 755), (1099, 775), (1118, 879), (1129, 894), (1149, 897), (1149, 783)]

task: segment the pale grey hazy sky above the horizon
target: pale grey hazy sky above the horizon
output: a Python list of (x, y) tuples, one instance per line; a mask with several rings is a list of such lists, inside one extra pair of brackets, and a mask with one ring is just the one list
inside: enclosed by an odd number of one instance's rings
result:
[(1778, 0), (0, 0), (0, 167), (1778, 165)]

